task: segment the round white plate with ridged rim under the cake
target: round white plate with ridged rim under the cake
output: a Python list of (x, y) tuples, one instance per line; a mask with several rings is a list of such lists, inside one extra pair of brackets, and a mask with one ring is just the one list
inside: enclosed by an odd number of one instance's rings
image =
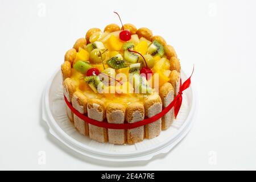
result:
[[(182, 80), (187, 76), (181, 71)], [(150, 160), (154, 155), (169, 152), (185, 137), (192, 126), (195, 113), (195, 93), (192, 85), (183, 92), (183, 103), (177, 119), (172, 126), (162, 131), (154, 139), (144, 139), (134, 145), (115, 145), (98, 143), (79, 134), (69, 122), (65, 113), (65, 101), (62, 91), (62, 78), (57, 71), (49, 80), (43, 94), (43, 119), (49, 126), (49, 132), (72, 150), (82, 155), (108, 161)]]

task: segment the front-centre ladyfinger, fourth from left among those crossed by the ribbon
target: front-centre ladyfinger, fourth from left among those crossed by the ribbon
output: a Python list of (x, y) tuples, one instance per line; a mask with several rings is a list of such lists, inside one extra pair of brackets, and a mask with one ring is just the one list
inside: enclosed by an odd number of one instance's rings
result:
[[(109, 123), (122, 124), (125, 122), (125, 106), (111, 103), (106, 107), (106, 118)], [(125, 143), (125, 130), (108, 129), (109, 143)]]

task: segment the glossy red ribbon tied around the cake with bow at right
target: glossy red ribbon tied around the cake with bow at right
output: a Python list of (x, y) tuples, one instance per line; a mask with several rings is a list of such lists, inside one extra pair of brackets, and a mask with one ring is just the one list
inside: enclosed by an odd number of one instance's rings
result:
[[(193, 68), (193, 72), (194, 72), (194, 68)], [(193, 74), (193, 72), (192, 72), (192, 74)], [(192, 76), (192, 74), (191, 74), (191, 76)], [(135, 122), (135, 123), (114, 124), (114, 123), (108, 123), (108, 121), (106, 121), (106, 119), (104, 119), (104, 121), (100, 122), (100, 121), (97, 121), (95, 119), (86, 117), (86, 115), (84, 115), (84, 114), (79, 113), (79, 111), (77, 111), (68, 102), (67, 97), (65, 97), (65, 95), (64, 95), (64, 100), (65, 100), (66, 104), (68, 105), (69, 109), (71, 109), (71, 111), (75, 115), (77, 115), (77, 117), (84, 120), (85, 122), (90, 123), (91, 125), (95, 125), (95, 126), (98, 126), (98, 127), (104, 127), (104, 128), (108, 128), (108, 129), (134, 129), (135, 127), (144, 126), (144, 125), (147, 125), (149, 123), (152, 123), (152, 122), (162, 118), (165, 114), (168, 113), (168, 111), (170, 111), (172, 109), (172, 107), (174, 107), (174, 114), (175, 114), (175, 118), (176, 118), (177, 114), (179, 113), (180, 106), (182, 104), (182, 94), (183, 94), (182, 92), (190, 86), (191, 76), (182, 85), (181, 85), (181, 78), (180, 78), (180, 91), (179, 91), (179, 93), (174, 98), (174, 100), (171, 102), (171, 104), (168, 105), (166, 108), (164, 108), (162, 110), (162, 112), (154, 115), (151, 118), (146, 118), (146, 119), (143, 119), (143, 120)]]

